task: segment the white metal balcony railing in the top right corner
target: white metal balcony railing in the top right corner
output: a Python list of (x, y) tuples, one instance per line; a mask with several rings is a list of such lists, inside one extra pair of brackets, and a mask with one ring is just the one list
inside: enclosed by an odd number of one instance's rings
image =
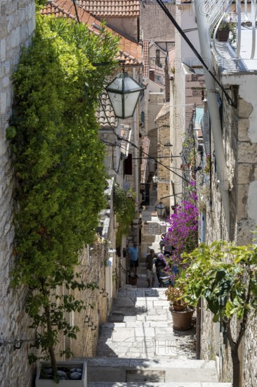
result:
[[(224, 50), (219, 49), (216, 41), (218, 26), (223, 20), (235, 22), (236, 39), (235, 59), (256, 59), (256, 0), (251, 2), (231, 0), (207, 0), (205, 3), (206, 18), (209, 24), (209, 34), (213, 42), (213, 48), (219, 56), (223, 57)], [(224, 45), (224, 44), (223, 44)]]

